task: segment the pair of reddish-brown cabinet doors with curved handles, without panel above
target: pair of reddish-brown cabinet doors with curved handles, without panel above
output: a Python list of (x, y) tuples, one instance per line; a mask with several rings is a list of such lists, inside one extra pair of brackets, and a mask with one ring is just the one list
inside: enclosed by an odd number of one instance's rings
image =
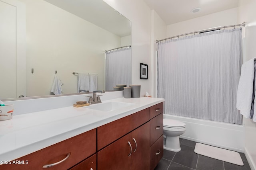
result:
[(98, 170), (149, 170), (150, 123), (98, 151)]

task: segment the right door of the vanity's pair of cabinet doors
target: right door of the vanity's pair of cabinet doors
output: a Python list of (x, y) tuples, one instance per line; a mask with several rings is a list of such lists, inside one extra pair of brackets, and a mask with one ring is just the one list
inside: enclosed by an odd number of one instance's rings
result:
[(132, 131), (132, 170), (150, 168), (150, 123)]

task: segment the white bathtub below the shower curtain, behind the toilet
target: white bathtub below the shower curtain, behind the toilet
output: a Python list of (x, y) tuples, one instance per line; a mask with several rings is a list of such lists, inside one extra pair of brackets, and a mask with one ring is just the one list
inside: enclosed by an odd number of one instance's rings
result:
[(164, 114), (164, 118), (186, 123), (183, 139), (244, 152), (244, 126)]

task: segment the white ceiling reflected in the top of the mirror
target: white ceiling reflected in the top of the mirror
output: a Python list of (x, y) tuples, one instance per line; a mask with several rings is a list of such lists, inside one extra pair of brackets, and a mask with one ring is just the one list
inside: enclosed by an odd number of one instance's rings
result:
[(120, 37), (131, 35), (131, 22), (103, 0), (45, 0)]

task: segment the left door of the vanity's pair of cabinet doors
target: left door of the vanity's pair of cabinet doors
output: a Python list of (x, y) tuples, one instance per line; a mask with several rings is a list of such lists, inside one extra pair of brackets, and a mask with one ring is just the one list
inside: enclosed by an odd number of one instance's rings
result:
[[(132, 149), (131, 133), (98, 152), (98, 170), (130, 170)], [(129, 143), (128, 143), (129, 142)]]

